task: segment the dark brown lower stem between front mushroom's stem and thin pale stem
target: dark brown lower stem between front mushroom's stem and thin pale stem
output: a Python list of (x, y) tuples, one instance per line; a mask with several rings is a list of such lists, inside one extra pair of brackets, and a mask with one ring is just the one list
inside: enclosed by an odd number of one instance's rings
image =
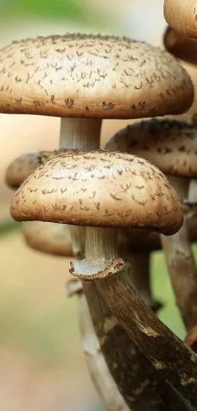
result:
[(170, 411), (164, 383), (160, 384), (151, 362), (133, 344), (103, 298), (99, 297), (95, 282), (83, 282), (83, 289), (101, 350), (131, 410)]

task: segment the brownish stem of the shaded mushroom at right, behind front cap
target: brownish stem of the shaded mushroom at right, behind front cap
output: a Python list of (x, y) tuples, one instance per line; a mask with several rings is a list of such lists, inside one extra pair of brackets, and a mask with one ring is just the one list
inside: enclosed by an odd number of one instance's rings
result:
[[(168, 176), (180, 199), (188, 198), (189, 180)], [(190, 330), (197, 325), (197, 269), (190, 247), (187, 220), (174, 235), (161, 234), (175, 298), (185, 327)]]

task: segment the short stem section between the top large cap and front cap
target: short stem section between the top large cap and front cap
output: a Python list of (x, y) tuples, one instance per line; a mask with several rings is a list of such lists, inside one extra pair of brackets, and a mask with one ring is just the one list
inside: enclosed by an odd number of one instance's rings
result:
[(101, 124), (100, 119), (61, 118), (59, 148), (97, 150)]

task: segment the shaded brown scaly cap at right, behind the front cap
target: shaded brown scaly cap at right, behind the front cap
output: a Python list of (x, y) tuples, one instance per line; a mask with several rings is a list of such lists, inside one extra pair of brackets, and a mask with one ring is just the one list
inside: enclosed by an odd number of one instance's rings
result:
[(169, 119), (141, 121), (118, 131), (106, 149), (140, 155), (166, 174), (197, 177), (197, 124)]

